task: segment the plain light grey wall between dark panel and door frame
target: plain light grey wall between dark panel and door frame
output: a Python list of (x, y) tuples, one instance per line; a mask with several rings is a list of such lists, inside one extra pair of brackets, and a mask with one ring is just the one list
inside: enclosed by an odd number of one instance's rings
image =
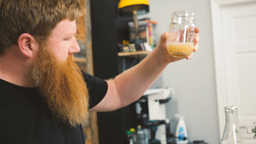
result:
[[(210, 0), (149, 0), (150, 12), (143, 17), (157, 21), (155, 39), (167, 31), (175, 10), (195, 13), (195, 25), (201, 30), (199, 49), (191, 60), (171, 63), (154, 86), (174, 88), (172, 100), (167, 103), (167, 117), (184, 115), (189, 140), (205, 140), (218, 144), (217, 98), (214, 77), (213, 40)], [(139, 17), (140, 18), (140, 17)], [(173, 129), (172, 129), (173, 130)]]

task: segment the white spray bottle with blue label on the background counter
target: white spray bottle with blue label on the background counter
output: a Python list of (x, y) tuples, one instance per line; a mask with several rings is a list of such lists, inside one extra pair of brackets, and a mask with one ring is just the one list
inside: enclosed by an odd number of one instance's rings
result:
[(187, 128), (185, 121), (182, 116), (175, 115), (176, 117), (179, 118), (178, 124), (177, 124), (177, 129), (176, 129), (176, 142), (177, 144), (187, 144), (188, 143), (188, 133), (187, 133)]

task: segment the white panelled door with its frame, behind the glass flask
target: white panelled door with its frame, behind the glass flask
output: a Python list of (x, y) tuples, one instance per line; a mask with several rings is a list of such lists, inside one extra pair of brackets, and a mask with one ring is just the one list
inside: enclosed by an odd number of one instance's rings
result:
[(211, 9), (220, 137), (224, 107), (238, 106), (238, 123), (246, 126), (244, 140), (255, 144), (256, 1), (212, 0)]

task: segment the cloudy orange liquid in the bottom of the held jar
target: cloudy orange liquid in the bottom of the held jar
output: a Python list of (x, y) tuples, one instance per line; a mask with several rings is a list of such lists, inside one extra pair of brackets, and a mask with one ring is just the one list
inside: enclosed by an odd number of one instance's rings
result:
[(167, 43), (167, 51), (173, 57), (186, 58), (194, 49), (194, 43)]

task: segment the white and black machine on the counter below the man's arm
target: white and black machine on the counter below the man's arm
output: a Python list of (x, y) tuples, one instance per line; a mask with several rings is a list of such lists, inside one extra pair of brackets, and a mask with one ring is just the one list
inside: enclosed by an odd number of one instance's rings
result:
[(135, 102), (136, 116), (142, 127), (150, 131), (150, 144), (166, 144), (170, 122), (166, 118), (165, 104), (174, 90), (170, 87), (149, 89)]

